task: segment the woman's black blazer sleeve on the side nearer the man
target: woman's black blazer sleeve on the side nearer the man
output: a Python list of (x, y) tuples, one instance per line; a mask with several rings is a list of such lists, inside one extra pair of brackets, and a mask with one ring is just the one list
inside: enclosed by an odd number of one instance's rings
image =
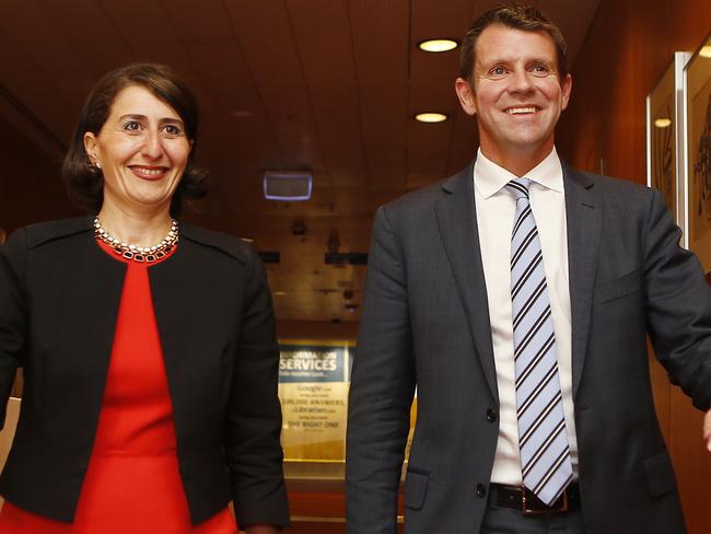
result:
[(253, 251), (246, 264), (240, 341), (230, 397), (226, 458), (241, 526), (287, 526), (289, 507), (280, 443), (279, 346), (264, 267)]

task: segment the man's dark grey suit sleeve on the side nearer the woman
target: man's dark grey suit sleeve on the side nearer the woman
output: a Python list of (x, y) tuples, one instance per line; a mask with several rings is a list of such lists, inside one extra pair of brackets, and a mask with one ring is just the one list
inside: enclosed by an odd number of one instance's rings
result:
[(401, 243), (384, 208), (373, 224), (349, 395), (349, 534), (394, 534), (416, 376)]

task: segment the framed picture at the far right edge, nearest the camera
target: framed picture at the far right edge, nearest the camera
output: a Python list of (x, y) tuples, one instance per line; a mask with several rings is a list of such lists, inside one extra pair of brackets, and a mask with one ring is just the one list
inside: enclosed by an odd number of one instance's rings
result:
[(684, 68), (688, 247), (711, 270), (711, 34)]

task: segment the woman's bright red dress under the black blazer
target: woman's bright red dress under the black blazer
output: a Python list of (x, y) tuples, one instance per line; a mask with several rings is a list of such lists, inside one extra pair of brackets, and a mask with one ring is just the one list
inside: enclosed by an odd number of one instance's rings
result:
[(104, 404), (74, 522), (61, 523), (5, 502), (0, 533), (237, 534), (228, 508), (196, 526), (190, 524), (178, 474), (173, 405), (153, 311), (150, 267), (125, 260), (107, 245), (100, 245), (128, 268)]

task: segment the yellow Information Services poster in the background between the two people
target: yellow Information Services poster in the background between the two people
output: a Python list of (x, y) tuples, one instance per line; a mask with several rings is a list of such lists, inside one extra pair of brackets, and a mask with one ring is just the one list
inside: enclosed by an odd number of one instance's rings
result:
[(284, 460), (345, 461), (353, 350), (349, 341), (280, 341)]

